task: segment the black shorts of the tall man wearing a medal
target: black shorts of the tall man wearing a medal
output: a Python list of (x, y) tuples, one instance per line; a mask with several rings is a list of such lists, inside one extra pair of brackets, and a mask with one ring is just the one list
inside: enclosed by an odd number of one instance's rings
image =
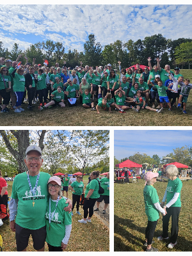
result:
[(33, 238), (33, 247), (35, 250), (40, 250), (45, 245), (46, 226), (39, 229), (22, 228), (15, 223), (15, 238), (17, 244), (17, 252), (23, 251), (28, 247), (29, 236)]

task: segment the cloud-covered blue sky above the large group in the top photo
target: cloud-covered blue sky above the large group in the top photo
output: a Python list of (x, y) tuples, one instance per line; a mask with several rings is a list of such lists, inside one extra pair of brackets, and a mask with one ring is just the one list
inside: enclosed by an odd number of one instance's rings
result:
[(0, 6), (0, 40), (9, 50), (15, 42), (24, 50), (30, 44), (52, 40), (62, 42), (65, 52), (69, 48), (80, 52), (90, 33), (96, 42), (107, 45), (116, 40), (135, 42), (158, 33), (172, 40), (189, 38), (192, 31), (192, 5), (186, 4), (19, 4)]

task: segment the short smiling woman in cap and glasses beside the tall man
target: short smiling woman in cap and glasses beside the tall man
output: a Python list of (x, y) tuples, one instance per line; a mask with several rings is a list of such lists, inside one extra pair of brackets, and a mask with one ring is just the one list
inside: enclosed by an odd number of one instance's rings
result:
[(67, 248), (68, 239), (72, 229), (70, 212), (63, 211), (66, 206), (65, 198), (61, 193), (61, 180), (52, 176), (48, 182), (49, 199), (47, 201), (46, 242), (49, 252), (63, 252)]

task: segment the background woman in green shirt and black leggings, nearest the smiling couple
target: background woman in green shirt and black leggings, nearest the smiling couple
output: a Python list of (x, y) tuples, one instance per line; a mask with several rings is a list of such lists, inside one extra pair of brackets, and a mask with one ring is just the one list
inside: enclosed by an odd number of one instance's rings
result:
[(83, 176), (82, 175), (77, 175), (76, 177), (76, 181), (72, 182), (72, 184), (70, 184), (70, 186), (68, 186), (68, 189), (72, 190), (72, 212), (71, 215), (74, 216), (73, 214), (73, 209), (76, 205), (77, 208), (77, 214), (81, 215), (81, 213), (79, 212), (79, 203), (80, 203), (80, 198), (81, 195), (84, 193), (84, 184), (83, 184)]

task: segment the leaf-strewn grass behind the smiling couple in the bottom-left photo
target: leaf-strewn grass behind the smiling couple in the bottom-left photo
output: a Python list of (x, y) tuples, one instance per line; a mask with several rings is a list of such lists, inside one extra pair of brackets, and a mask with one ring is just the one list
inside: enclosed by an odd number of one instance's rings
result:
[[(88, 176), (83, 178), (83, 183), (86, 185)], [(12, 184), (8, 182), (8, 196), (12, 195)], [(66, 194), (65, 194), (66, 196)], [(72, 200), (72, 191), (69, 191), (68, 198)], [(76, 207), (76, 206), (75, 206)], [(74, 213), (76, 208), (74, 209)], [(83, 214), (83, 209), (80, 206), (79, 211)], [(72, 232), (68, 241), (65, 252), (107, 252), (109, 251), (109, 229), (102, 221), (93, 214), (92, 223), (86, 225), (79, 223), (82, 216), (74, 214), (72, 217)], [(3, 251), (16, 252), (15, 233), (10, 230), (9, 222), (5, 221), (0, 227), (0, 234), (3, 238)], [(98, 236), (99, 234), (99, 236)], [(28, 252), (35, 252), (33, 249), (33, 241), (30, 237)], [(47, 243), (45, 243), (45, 252), (48, 252)]]

